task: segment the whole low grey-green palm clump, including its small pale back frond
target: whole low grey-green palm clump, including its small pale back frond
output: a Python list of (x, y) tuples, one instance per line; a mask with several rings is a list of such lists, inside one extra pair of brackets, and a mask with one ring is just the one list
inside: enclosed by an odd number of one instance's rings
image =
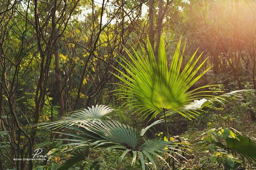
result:
[[(162, 141), (160, 139), (145, 140), (143, 138), (144, 134), (150, 127), (162, 123), (164, 120), (157, 120), (146, 128), (142, 129), (140, 132), (136, 128), (129, 125), (124, 125), (118, 121), (112, 120), (110, 118), (103, 119), (104, 115), (110, 113), (113, 109), (107, 106), (92, 106), (88, 107), (86, 110), (71, 112), (67, 117), (62, 117), (58, 121), (53, 121), (50, 123), (40, 123), (37, 124), (42, 129), (62, 129), (65, 128), (66, 131), (56, 131), (54, 133), (66, 135), (70, 137), (68, 139), (58, 139), (61, 141), (69, 141), (66, 144), (69, 146), (67, 151), (82, 150), (84, 148), (105, 148), (122, 150), (120, 155), (119, 163), (122, 162), (124, 156), (130, 155), (132, 165), (135, 164), (136, 160), (141, 163), (142, 170), (145, 170), (146, 160), (152, 162), (154, 169), (156, 169), (156, 164), (154, 158), (158, 157), (166, 163), (161, 154), (166, 154), (172, 156), (170, 153), (182, 156), (179, 152), (184, 152), (177, 147), (180, 143), (173, 143), (169, 141)], [(142, 144), (139, 140), (144, 141)], [(182, 145), (184, 145), (182, 143)], [(174, 158), (175, 159), (175, 158)], [(186, 159), (186, 158), (185, 158)], [(66, 160), (65, 165), (72, 166), (72, 162), (75, 164), (80, 161), (79, 156), (74, 156), (72, 159)], [(82, 159), (84, 160), (84, 159)], [(176, 159), (175, 159), (176, 160)], [(166, 163), (166, 166), (169, 166)], [(60, 169), (64, 168), (60, 166)]]

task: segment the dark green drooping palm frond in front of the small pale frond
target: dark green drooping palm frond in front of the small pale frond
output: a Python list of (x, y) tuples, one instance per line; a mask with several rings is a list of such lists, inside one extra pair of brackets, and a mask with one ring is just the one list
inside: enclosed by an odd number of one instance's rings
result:
[[(130, 154), (130, 156), (132, 156), (132, 164), (134, 164), (136, 160), (139, 160), (142, 169), (145, 170), (145, 162), (146, 160), (149, 160), (156, 169), (154, 157), (158, 157), (165, 162), (164, 158), (160, 156), (161, 154), (172, 156), (170, 153), (175, 153), (182, 156), (178, 152), (183, 152), (177, 148), (178, 143), (162, 141), (159, 139), (148, 140), (144, 141), (142, 145), (139, 144), (139, 138), (144, 135), (146, 130), (162, 121), (163, 120), (156, 121), (139, 132), (136, 128), (124, 125), (115, 120), (84, 117), (84, 119), (66, 120), (65, 123), (70, 123), (68, 125), (65, 124), (62, 126), (58, 124), (61, 128), (65, 127), (68, 132), (56, 133), (65, 135), (69, 138), (58, 139), (70, 142), (66, 144), (69, 146), (68, 149), (64, 149), (66, 151), (82, 149), (85, 147), (104, 148), (105, 150), (118, 149), (123, 150), (120, 162), (122, 162), (127, 154)], [(56, 125), (54, 125), (54, 128), (56, 129)]]

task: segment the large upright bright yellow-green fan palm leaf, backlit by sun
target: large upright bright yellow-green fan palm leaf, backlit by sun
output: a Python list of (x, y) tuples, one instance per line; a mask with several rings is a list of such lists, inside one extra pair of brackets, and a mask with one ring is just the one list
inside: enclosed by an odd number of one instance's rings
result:
[[(123, 88), (115, 90), (116, 95), (122, 95), (128, 99), (124, 103), (125, 107), (137, 108), (135, 111), (141, 117), (151, 116), (149, 120), (153, 119), (163, 110), (175, 112), (187, 117), (188, 119), (195, 118), (199, 113), (196, 109), (200, 109), (204, 102), (224, 102), (225, 98), (230, 95), (217, 97), (212, 95), (213, 92), (220, 92), (214, 90), (202, 90), (211, 86), (201, 86), (194, 90), (190, 88), (208, 71), (212, 68), (209, 66), (202, 72), (199, 72), (207, 59), (202, 63), (198, 63), (202, 53), (196, 57), (196, 52), (192, 55), (186, 66), (181, 69), (182, 59), (185, 51), (185, 44), (180, 54), (181, 38), (178, 42), (176, 51), (172, 58), (172, 63), (168, 68), (167, 58), (164, 47), (164, 40), (160, 39), (158, 49), (158, 63), (154, 57), (150, 41), (148, 40), (148, 53), (142, 49), (142, 54), (136, 52), (137, 50), (132, 47), (134, 55), (128, 49), (125, 49), (128, 59), (124, 56), (119, 56), (119, 61), (116, 60), (120, 67), (114, 67), (117, 73), (112, 72), (124, 84), (119, 84)], [(195, 61), (193, 61), (195, 59)], [(119, 73), (119, 74), (118, 74)], [(238, 90), (233, 93), (233, 96), (246, 90)], [(203, 100), (203, 101), (202, 101)], [(200, 107), (196, 106), (194, 102), (200, 101)], [(210, 107), (210, 103), (204, 104)], [(196, 109), (195, 109), (196, 108)]]

